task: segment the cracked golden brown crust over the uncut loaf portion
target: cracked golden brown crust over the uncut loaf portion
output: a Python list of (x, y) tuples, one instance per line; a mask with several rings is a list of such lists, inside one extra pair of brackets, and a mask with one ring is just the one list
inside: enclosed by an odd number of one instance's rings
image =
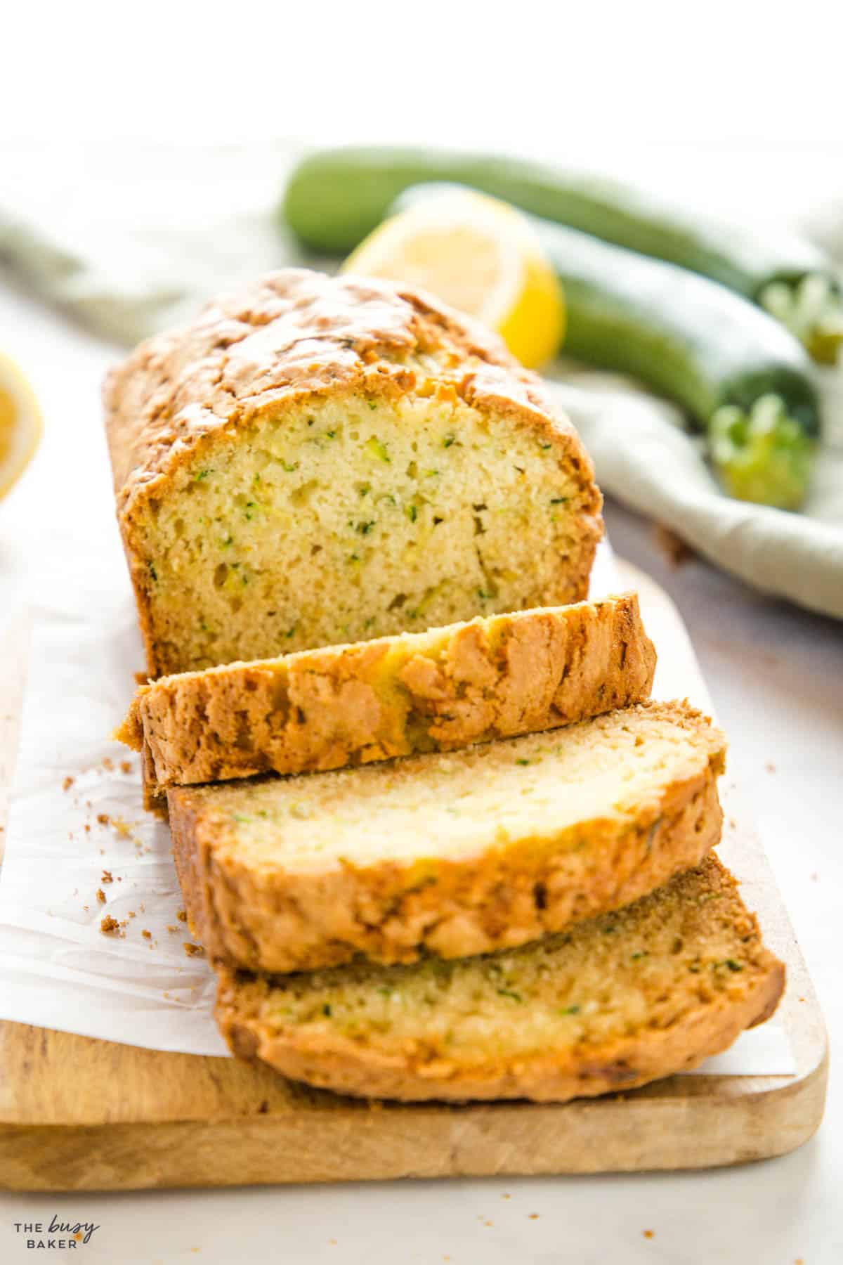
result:
[(211, 304), (192, 325), (142, 343), (106, 379), (118, 517), (149, 676), (166, 664), (155, 646), (150, 577), (135, 531), (149, 498), (166, 495), (183, 463), (307, 398), (440, 390), (537, 429), (575, 472), (580, 503), (570, 595), (585, 597), (602, 535), (602, 497), (576, 431), (552, 410), (540, 378), (495, 335), (431, 296), (288, 268)]

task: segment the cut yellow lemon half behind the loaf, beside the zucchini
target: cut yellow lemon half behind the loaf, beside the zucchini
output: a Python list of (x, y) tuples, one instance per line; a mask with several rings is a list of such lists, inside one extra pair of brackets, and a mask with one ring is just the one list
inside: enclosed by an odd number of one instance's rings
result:
[(428, 290), (500, 334), (535, 368), (565, 333), (565, 296), (519, 211), (484, 194), (452, 190), (380, 224), (343, 272)]

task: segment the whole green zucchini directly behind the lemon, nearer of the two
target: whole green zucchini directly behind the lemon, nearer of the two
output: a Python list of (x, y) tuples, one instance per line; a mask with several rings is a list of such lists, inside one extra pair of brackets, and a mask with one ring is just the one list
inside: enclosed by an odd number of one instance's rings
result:
[[(452, 186), (406, 190), (387, 214)], [(727, 491), (795, 510), (819, 436), (811, 363), (777, 321), (685, 268), (528, 216), (562, 282), (565, 350), (629, 373), (705, 430)]]

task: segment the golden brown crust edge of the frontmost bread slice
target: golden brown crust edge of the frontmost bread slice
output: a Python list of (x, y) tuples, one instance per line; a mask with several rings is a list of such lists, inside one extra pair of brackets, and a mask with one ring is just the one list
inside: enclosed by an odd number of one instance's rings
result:
[[(648, 998), (642, 984), (642, 996), (633, 998), (638, 1004), (629, 1004), (629, 1013), (638, 1013), (643, 997), (651, 1022), (642, 1025), (636, 1020), (616, 1025), (609, 1037), (593, 1039), (586, 1028), (585, 1034), (556, 1047), (531, 1052), (517, 1050), (509, 1055), (490, 1050), (485, 1058), (483, 1050), (474, 1050), (470, 1058), (463, 1059), (435, 1036), (384, 1047), (379, 1046), (377, 1032), (367, 1040), (365, 1034), (346, 1035), (330, 1025), (298, 1028), (294, 1023), (270, 1021), (265, 1003), (274, 988), (272, 977), (246, 975), (219, 964), (216, 1017), (225, 1040), (239, 1058), (269, 1064), (286, 1077), (346, 1094), (402, 1101), (530, 1098), (566, 1102), (628, 1090), (698, 1066), (776, 1009), (785, 987), (785, 968), (763, 947), (757, 920), (747, 912), (734, 879), (715, 858), (645, 898), (640, 906), (699, 902), (718, 894), (727, 902), (733, 920), (732, 940), (742, 956), (741, 970), (732, 975), (727, 969), (728, 985), (720, 989), (713, 989), (704, 973), (686, 977), (677, 970), (674, 998), (665, 996), (664, 977), (660, 978), (658, 998)], [(629, 931), (631, 926), (634, 930), (637, 910), (626, 911), (627, 921), (617, 937), (622, 949), (627, 941), (628, 950), (640, 944)], [(570, 951), (583, 955), (589, 935), (599, 935), (603, 930), (599, 921), (580, 927), (580, 944)], [(690, 949), (704, 955), (704, 932), (698, 940), (690, 946), (684, 944), (680, 954)], [(599, 997), (594, 1004), (599, 1011), (603, 1004)], [(656, 1012), (665, 1007), (671, 1018), (662, 1023)]]

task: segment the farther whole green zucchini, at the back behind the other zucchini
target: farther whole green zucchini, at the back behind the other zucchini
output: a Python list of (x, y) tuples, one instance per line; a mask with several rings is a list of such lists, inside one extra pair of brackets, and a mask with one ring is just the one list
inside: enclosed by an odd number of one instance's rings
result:
[(293, 170), (283, 215), (307, 245), (348, 252), (404, 188), (427, 181), (469, 185), (533, 215), (703, 273), (765, 307), (823, 363), (834, 363), (843, 345), (839, 281), (823, 252), (798, 234), (751, 231), (647, 190), (528, 159), (421, 148), (326, 149)]

